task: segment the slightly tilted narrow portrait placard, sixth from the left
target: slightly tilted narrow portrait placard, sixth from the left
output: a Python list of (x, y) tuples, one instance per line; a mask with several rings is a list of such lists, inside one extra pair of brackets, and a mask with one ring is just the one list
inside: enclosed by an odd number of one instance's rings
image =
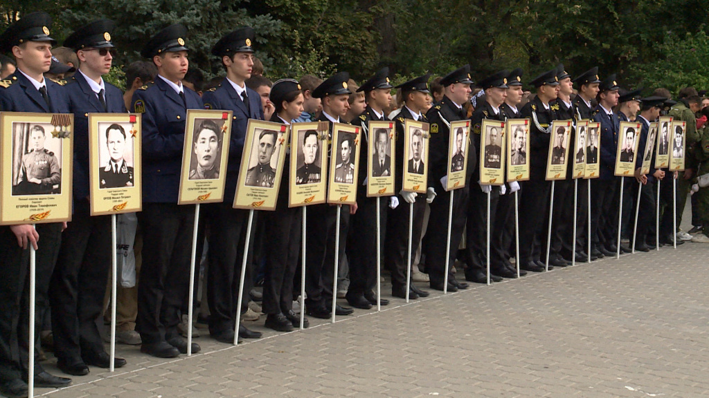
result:
[(333, 147), (330, 149), (330, 178), (328, 203), (354, 205), (357, 202), (357, 173), (359, 173), (358, 126), (333, 123)]

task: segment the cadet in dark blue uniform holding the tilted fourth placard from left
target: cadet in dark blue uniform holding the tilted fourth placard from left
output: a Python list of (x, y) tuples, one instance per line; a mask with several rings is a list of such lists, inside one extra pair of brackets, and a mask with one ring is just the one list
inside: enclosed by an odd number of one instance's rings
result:
[[(250, 78), (254, 65), (254, 50), (251, 47), (254, 39), (254, 30), (245, 27), (228, 33), (212, 47), (212, 55), (220, 57), (226, 77), (216, 89), (203, 95), (205, 108), (233, 111), (224, 201), (208, 205), (206, 213), (211, 226), (207, 268), (209, 334), (217, 341), (229, 344), (234, 342), (236, 312), (246, 312), (252, 280), (252, 261), (247, 261), (243, 305), (240, 309), (236, 308), (249, 212), (232, 208), (232, 203), (239, 179), (247, 123), (249, 119), (264, 118), (259, 94), (244, 83)], [(257, 339), (261, 333), (239, 325), (239, 336)]]

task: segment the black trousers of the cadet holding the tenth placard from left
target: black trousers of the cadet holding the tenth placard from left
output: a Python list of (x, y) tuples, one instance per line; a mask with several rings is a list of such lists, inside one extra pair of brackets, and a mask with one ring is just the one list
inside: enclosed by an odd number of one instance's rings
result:
[[(457, 193), (457, 192), (456, 192)], [(493, 249), (493, 234), (495, 231), (495, 215), (497, 214), (500, 190), (493, 187), (490, 193), (490, 256), (495, 258)], [(469, 186), (469, 200), (466, 206), (467, 227), (465, 229), (466, 238), (466, 263), (468, 269), (473, 271), (487, 270), (487, 193), (480, 189), (477, 182), (471, 182)], [(447, 217), (447, 215), (446, 215)], [(455, 214), (453, 215), (455, 217)], [(434, 220), (434, 219), (432, 219)], [(447, 220), (447, 218), (446, 218)], [(452, 235), (451, 235), (452, 236)], [(457, 248), (457, 246), (456, 246)], [(450, 275), (449, 275), (450, 277)]]

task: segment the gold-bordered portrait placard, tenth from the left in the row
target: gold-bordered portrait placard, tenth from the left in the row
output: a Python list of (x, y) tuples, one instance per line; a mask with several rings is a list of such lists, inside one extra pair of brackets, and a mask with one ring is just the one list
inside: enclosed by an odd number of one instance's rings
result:
[(483, 119), (480, 134), (480, 181), (501, 186), (505, 183), (505, 122)]

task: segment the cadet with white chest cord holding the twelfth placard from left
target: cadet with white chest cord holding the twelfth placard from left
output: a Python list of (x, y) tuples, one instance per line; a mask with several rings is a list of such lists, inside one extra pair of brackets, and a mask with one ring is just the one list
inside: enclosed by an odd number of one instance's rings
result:
[[(522, 184), (520, 200), (520, 268), (526, 271), (545, 271), (540, 261), (541, 242), (545, 237), (545, 209), (549, 206), (549, 188), (546, 181), (549, 140), (552, 121), (557, 118), (551, 102), (559, 93), (557, 69), (542, 73), (532, 80), (537, 96), (522, 108), (522, 116), (530, 119), (530, 180)], [(549, 269), (552, 269), (549, 266)]]

